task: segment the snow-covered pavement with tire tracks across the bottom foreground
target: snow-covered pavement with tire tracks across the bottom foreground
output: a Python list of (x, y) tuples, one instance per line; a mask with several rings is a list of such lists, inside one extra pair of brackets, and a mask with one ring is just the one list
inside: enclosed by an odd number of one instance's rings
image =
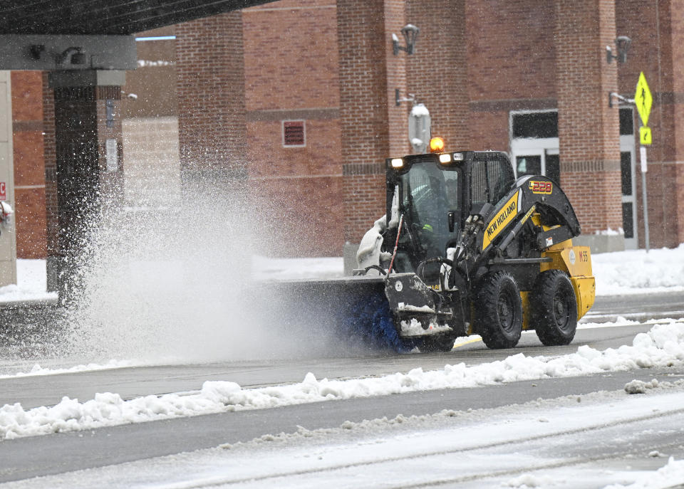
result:
[[(3, 485), (6, 488), (655, 489), (684, 482), (658, 443), (680, 431), (684, 386), (444, 410), (294, 433)], [(659, 449), (658, 449), (659, 448)]]

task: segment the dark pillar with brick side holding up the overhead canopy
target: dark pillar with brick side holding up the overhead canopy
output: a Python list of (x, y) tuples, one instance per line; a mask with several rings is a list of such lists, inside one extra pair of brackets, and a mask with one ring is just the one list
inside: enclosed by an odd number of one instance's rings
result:
[[(46, 120), (53, 117), (55, 153), (54, 166), (46, 154), (47, 278), (48, 290), (65, 296), (103, 197), (113, 206), (121, 196), (120, 85), (125, 74), (56, 72), (49, 82), (53, 96), (45, 115)], [(46, 142), (51, 137), (46, 135)]]

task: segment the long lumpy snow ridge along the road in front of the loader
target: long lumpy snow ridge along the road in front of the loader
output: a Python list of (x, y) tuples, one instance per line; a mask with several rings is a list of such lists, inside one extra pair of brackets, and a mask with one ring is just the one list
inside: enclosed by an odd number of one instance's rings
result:
[(124, 401), (118, 394), (105, 393), (83, 403), (65, 397), (56, 406), (28, 411), (21, 404), (6, 404), (0, 408), (0, 436), (9, 439), (222, 411), (682, 364), (684, 322), (673, 320), (638, 334), (632, 346), (602, 352), (585, 345), (576, 353), (561, 357), (526, 357), (520, 353), (502, 361), (470, 367), (460, 363), (445, 365), (441, 370), (425, 372), (418, 368), (405, 374), (363, 379), (318, 380), (309, 373), (300, 384), (258, 389), (242, 389), (234, 382), (204, 382), (202, 390), (194, 394), (145, 396)]

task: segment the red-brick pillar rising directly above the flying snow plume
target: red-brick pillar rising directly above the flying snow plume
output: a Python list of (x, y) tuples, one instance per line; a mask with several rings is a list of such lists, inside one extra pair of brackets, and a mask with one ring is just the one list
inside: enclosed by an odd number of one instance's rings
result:
[(242, 13), (181, 23), (175, 33), (181, 185), (244, 181)]

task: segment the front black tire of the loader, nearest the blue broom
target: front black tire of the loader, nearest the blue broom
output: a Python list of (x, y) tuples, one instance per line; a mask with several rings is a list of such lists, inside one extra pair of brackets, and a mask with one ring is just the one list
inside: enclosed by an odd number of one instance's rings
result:
[(512, 348), (522, 333), (520, 290), (510, 273), (487, 273), (475, 295), (475, 330), (492, 349)]

